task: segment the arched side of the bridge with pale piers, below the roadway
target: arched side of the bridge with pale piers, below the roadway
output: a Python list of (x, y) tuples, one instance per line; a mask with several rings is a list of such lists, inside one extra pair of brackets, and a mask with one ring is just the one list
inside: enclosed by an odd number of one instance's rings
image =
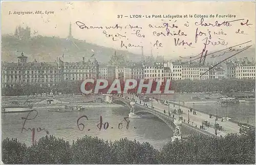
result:
[(160, 120), (167, 124), (170, 129), (174, 130), (174, 137), (172, 137), (173, 140), (175, 138), (186, 138), (189, 135), (216, 136), (215, 134), (211, 134), (210, 132), (189, 125), (183, 121), (175, 120), (172, 116), (169, 116), (168, 114), (165, 114), (163, 112), (143, 106), (139, 103), (131, 102), (131, 100), (127, 100), (124, 97), (118, 97), (113, 95), (112, 97), (110, 97), (110, 102), (127, 106), (130, 109), (129, 117), (131, 118), (133, 117), (133, 115), (139, 114), (141, 112), (147, 112), (157, 116)]

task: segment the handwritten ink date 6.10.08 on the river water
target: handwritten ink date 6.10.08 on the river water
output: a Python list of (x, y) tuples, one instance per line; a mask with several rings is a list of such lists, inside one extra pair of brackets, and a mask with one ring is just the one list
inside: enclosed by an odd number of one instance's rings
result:
[[(83, 115), (83, 116), (79, 117), (78, 120), (77, 120), (77, 127), (78, 127), (78, 130), (80, 130), (80, 131), (83, 131), (86, 128), (86, 126), (82, 123), (83, 119), (88, 120), (87, 115)], [(128, 121), (127, 119), (128, 119), (128, 117), (124, 117), (124, 121), (126, 123), (126, 129), (129, 129), (130, 121)], [(101, 130), (102, 128), (104, 130), (106, 130), (108, 128), (111, 128), (111, 129), (114, 128), (114, 127), (110, 127), (109, 122), (104, 122), (103, 123), (102, 116), (100, 116), (100, 121), (97, 124), (97, 127), (98, 127), (99, 130)], [(118, 127), (118, 129), (122, 129), (123, 128), (123, 123), (119, 123), (117, 127)], [(134, 127), (134, 128), (136, 128), (136, 127)], [(87, 130), (90, 131), (91, 129), (87, 129)]]

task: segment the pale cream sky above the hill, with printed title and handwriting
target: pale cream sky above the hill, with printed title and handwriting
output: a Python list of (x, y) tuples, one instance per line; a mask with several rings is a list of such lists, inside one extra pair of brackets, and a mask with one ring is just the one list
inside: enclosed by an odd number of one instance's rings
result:
[[(16, 26), (21, 25), (22, 27), (29, 26), (32, 36), (67, 38), (71, 23), (72, 35), (76, 39), (127, 50), (135, 54), (141, 54), (140, 46), (143, 46), (144, 55), (151, 55), (152, 52), (153, 55), (174, 58), (195, 56), (204, 49), (206, 38), (209, 43), (208, 52), (215, 52), (250, 40), (251, 42), (243, 44), (240, 49), (247, 45), (252, 45), (251, 48), (254, 48), (255, 45), (254, 2), (2, 2), (1, 7), (2, 34), (13, 34)], [(14, 13), (23, 11), (31, 11), (33, 14)], [(36, 11), (42, 11), (44, 14), (36, 14)], [(53, 13), (47, 14), (46, 11)], [(141, 15), (141, 18), (131, 18), (136, 14)], [(195, 17), (195, 14), (196, 16), (199, 14), (208, 16), (203, 18), (202, 24), (215, 25), (218, 21), (222, 25), (219, 27), (201, 26), (202, 18)], [(235, 15), (236, 17), (216, 18), (216, 14)], [(161, 18), (153, 18), (153, 15), (160, 15)], [(179, 16), (163, 18), (163, 15), (181, 15), (182, 18)], [(184, 15), (188, 18), (184, 18)], [(210, 15), (215, 17), (212, 18)], [(149, 16), (151, 18), (148, 18)], [(79, 26), (83, 23), (89, 29), (79, 28), (77, 21), (80, 22)], [(224, 21), (232, 21), (229, 22), (231, 26), (225, 26)], [(242, 26), (241, 22), (245, 25)], [(169, 25), (167, 29), (166, 23)], [(115, 27), (117, 24), (122, 29), (105, 28), (106, 26)], [(127, 25), (138, 26), (141, 29), (125, 28)], [(165, 27), (150, 28), (150, 25)], [(92, 29), (90, 26), (102, 27), (102, 29)], [(179, 31), (180, 35), (174, 36), (174, 33), (178, 34)], [(181, 35), (182, 32), (183, 35)], [(157, 33), (162, 33), (162, 35), (155, 36)], [(107, 37), (109, 35), (111, 36)], [(217, 44), (212, 45), (215, 42)], [(129, 47), (129, 43), (138, 46)]]

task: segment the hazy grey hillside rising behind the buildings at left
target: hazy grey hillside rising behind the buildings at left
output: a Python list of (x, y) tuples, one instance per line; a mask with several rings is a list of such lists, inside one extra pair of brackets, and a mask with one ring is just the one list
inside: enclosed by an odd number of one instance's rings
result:
[[(82, 57), (91, 58), (95, 51), (96, 59), (100, 62), (108, 62), (115, 50), (77, 39), (36, 36), (26, 40), (18, 40), (13, 36), (2, 36), (2, 61), (16, 62), (16, 57), (24, 52), (29, 61), (55, 61), (64, 54), (64, 61), (80, 61)], [(117, 50), (117, 55), (129, 55), (129, 59), (139, 61), (141, 56), (127, 51)], [(93, 57), (93, 58), (94, 58)]]

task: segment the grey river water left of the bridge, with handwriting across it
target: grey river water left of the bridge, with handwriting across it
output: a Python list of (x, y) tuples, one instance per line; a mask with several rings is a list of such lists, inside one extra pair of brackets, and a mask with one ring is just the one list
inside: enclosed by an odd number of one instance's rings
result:
[[(127, 137), (130, 140), (136, 139), (139, 142), (148, 142), (156, 149), (162, 148), (173, 136), (173, 131), (163, 122), (158, 119), (130, 119), (129, 128), (126, 129), (127, 122), (124, 117), (127, 117), (129, 109), (126, 107), (108, 107), (108, 108), (91, 108), (85, 111), (73, 112), (48, 112), (48, 110), (38, 110), (38, 115), (34, 120), (26, 121), (25, 128), (46, 128), (50, 134), (69, 140), (80, 138), (84, 135), (97, 136), (104, 140), (119, 140)], [(6, 137), (17, 138), (21, 142), (31, 145), (32, 133), (31, 131), (23, 130), (22, 127), (28, 112), (18, 113), (2, 113), (2, 140)], [(33, 118), (35, 112), (30, 114), (29, 118)], [(77, 126), (77, 120), (80, 116), (87, 115), (79, 121), (85, 125), (85, 128), (80, 131)], [(109, 128), (101, 130), (97, 127), (102, 116), (103, 124), (109, 123)], [(119, 123), (122, 123), (118, 128)], [(112, 128), (113, 127), (113, 128)], [(80, 126), (82, 129), (82, 126)], [(90, 130), (89, 130), (90, 129)], [(89, 131), (88, 131), (89, 130)], [(45, 136), (46, 132), (36, 132), (35, 140)]]

